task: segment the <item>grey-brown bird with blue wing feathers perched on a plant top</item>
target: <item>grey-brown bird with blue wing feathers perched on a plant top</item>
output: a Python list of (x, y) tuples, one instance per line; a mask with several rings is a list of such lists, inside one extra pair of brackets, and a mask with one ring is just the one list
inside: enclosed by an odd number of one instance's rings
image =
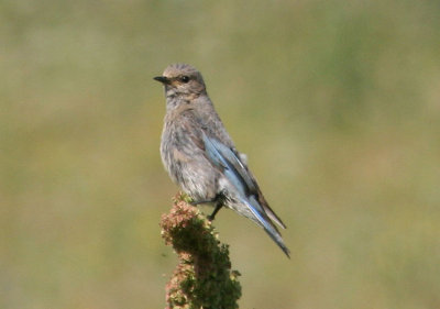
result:
[(283, 229), (286, 225), (264, 198), (246, 155), (235, 148), (200, 71), (187, 64), (172, 64), (154, 79), (165, 90), (161, 157), (172, 180), (194, 206), (213, 206), (210, 221), (222, 207), (232, 209), (263, 228), (290, 257), (275, 223)]

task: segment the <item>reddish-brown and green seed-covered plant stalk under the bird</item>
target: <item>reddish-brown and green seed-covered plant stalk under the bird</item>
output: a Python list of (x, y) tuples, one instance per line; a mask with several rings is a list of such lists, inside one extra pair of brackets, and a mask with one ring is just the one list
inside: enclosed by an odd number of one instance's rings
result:
[(220, 243), (211, 222), (187, 196), (177, 194), (161, 228), (179, 260), (166, 285), (166, 309), (239, 308), (240, 273), (231, 271), (228, 245)]

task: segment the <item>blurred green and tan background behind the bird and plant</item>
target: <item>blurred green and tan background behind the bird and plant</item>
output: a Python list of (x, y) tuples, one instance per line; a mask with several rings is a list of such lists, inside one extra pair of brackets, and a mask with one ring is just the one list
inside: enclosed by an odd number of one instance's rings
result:
[(241, 308), (440, 308), (438, 1), (0, 1), (0, 308), (163, 308), (170, 63), (208, 91), (292, 261), (216, 220)]

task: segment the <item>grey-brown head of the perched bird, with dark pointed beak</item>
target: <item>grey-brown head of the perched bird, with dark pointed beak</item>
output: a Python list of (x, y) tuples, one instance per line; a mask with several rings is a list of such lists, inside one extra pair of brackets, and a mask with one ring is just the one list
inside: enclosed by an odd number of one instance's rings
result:
[(167, 97), (193, 97), (206, 92), (201, 74), (190, 65), (170, 65), (164, 70), (162, 76), (156, 76), (154, 79), (165, 86)]

